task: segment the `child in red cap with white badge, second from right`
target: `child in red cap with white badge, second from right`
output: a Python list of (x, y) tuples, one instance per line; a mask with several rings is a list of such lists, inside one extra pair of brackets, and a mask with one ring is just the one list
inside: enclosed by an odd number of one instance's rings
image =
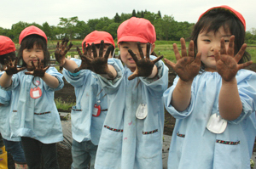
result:
[(111, 71), (114, 78), (98, 75), (108, 94), (108, 114), (95, 166), (162, 168), (162, 94), (167, 87), (168, 68), (159, 61), (161, 57), (149, 57), (156, 40), (154, 25), (132, 17), (119, 25), (117, 33), (120, 59), (125, 66), (118, 59), (108, 59), (108, 65), (106, 62), (106, 65), (96, 66), (105, 67), (106, 73)]

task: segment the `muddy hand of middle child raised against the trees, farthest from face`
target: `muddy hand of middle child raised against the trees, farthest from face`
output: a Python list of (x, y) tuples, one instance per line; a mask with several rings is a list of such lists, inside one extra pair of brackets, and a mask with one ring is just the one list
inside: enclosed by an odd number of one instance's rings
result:
[(67, 38), (62, 39), (61, 45), (57, 42), (55, 48), (55, 59), (60, 63), (61, 67), (65, 64), (65, 55), (67, 54), (67, 51), (73, 46), (72, 42), (67, 46), (68, 41)]

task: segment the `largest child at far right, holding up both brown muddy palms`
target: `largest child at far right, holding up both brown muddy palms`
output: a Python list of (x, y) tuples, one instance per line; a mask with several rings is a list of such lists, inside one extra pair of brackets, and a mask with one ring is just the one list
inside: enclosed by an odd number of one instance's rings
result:
[(195, 24), (188, 55), (183, 38), (182, 57), (173, 44), (177, 63), (165, 59), (177, 72), (164, 93), (166, 110), (177, 119), (168, 168), (250, 168), (244, 128), (255, 112), (256, 74), (242, 70), (252, 64), (245, 30), (235, 9), (213, 7)]

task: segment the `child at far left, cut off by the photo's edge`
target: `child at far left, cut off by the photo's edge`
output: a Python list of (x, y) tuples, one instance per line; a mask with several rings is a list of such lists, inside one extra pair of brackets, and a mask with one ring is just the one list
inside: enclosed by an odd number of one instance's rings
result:
[[(15, 60), (16, 48), (15, 43), (9, 38), (5, 36), (0, 36), (0, 64), (1, 70), (6, 68), (4, 63), (4, 59)], [(1, 72), (1, 74), (4, 71)], [(10, 100), (11, 100), (11, 91), (4, 91), (0, 89), (0, 132), (3, 137), (3, 143), (5, 145), (5, 150), (8, 151), (14, 161), (15, 168), (27, 168), (26, 159), (24, 155), (24, 151), (20, 144), (20, 138), (11, 138), (10, 137), (10, 127), (9, 127), (9, 111), (10, 111)], [(2, 149), (2, 148), (1, 148)], [(0, 162), (1, 164), (3, 161)], [(7, 166), (6, 166), (7, 167)]]

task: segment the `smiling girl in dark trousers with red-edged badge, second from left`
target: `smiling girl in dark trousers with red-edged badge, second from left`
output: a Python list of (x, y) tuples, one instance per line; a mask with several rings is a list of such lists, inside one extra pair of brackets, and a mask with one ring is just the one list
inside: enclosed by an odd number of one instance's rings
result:
[[(59, 168), (56, 144), (63, 140), (61, 120), (54, 92), (63, 87), (62, 75), (49, 64), (47, 37), (36, 26), (20, 33), (20, 49), (15, 65), (9, 60), (0, 85), (12, 91), (11, 130), (21, 137), (27, 166)], [(17, 62), (24, 68), (17, 68)]]

